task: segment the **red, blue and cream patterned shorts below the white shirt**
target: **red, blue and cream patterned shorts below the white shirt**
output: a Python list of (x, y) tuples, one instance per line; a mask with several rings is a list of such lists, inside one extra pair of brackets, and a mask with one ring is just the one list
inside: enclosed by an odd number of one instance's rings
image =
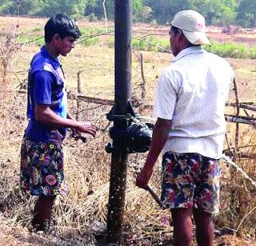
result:
[(162, 157), (162, 203), (166, 208), (219, 210), (218, 160), (198, 153), (167, 152)]

